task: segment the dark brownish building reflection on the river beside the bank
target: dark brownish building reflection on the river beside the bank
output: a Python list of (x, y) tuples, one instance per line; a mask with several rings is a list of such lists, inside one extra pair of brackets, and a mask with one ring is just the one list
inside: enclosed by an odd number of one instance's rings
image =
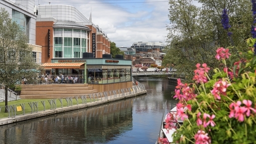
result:
[(0, 143), (104, 143), (131, 130), (133, 99), (1, 127)]

